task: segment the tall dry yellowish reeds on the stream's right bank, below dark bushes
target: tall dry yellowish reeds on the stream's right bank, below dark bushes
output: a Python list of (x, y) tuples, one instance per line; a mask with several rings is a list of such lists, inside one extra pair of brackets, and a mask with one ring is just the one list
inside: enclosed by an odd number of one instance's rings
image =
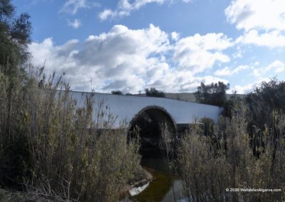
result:
[[(194, 125), (181, 140), (177, 164), (187, 201), (284, 201), (285, 115), (274, 127), (247, 132), (243, 115), (221, 118), (219, 131), (204, 136)], [(252, 144), (254, 141), (262, 144)], [(263, 147), (257, 147), (263, 145)], [(253, 148), (257, 147), (257, 148)], [(258, 152), (254, 153), (254, 149)], [(227, 189), (229, 188), (229, 190)], [(281, 191), (242, 191), (242, 188)]]

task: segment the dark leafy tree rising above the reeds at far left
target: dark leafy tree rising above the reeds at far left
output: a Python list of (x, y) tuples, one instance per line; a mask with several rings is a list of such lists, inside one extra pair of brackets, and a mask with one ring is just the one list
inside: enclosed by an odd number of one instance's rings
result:
[(0, 0), (0, 70), (5, 75), (19, 73), (20, 65), (28, 59), (31, 42), (30, 16), (26, 13), (15, 17), (11, 0)]

